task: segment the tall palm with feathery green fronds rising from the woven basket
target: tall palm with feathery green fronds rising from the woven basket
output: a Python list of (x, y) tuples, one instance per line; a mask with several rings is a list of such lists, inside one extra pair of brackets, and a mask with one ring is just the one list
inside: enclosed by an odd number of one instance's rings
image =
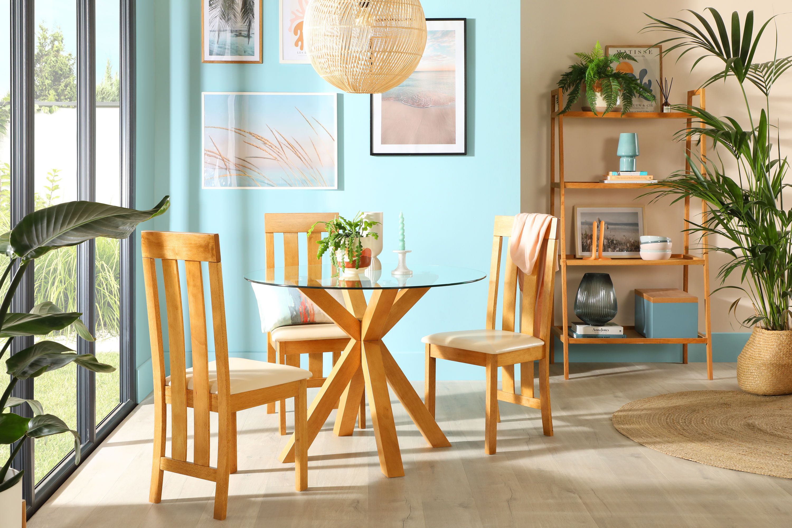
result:
[[(664, 55), (676, 51), (679, 58), (688, 52), (698, 53), (691, 70), (703, 59), (719, 59), (723, 69), (708, 78), (704, 86), (733, 78), (741, 89), (748, 113), (748, 125), (725, 116), (717, 117), (703, 108), (673, 105), (676, 112), (685, 112), (694, 120), (689, 129), (679, 131), (677, 139), (692, 137), (710, 140), (716, 154), (713, 159), (687, 158), (690, 171), (674, 173), (649, 194), (675, 196), (674, 202), (687, 197), (706, 201), (709, 213), (700, 223), (690, 222), (687, 231), (699, 235), (720, 235), (729, 245), (707, 245), (707, 249), (725, 254), (728, 261), (718, 271), (722, 283), (737, 272), (741, 286), (748, 295), (755, 313), (744, 325), (758, 325), (767, 330), (792, 328), (790, 293), (792, 293), (792, 211), (784, 210), (782, 190), (789, 168), (779, 145), (780, 132), (771, 113), (771, 89), (779, 77), (792, 66), (792, 57), (778, 57), (778, 40), (773, 59), (754, 62), (756, 49), (771, 17), (754, 35), (754, 15), (749, 11), (741, 25), (740, 15), (732, 13), (730, 31), (716, 9), (707, 8), (714, 23), (701, 13), (688, 10), (695, 21), (681, 18), (658, 19), (643, 31), (671, 32), (672, 37), (658, 44), (672, 43)], [(764, 96), (763, 108), (748, 102), (746, 87), (753, 85)], [(697, 126), (698, 125), (698, 126)], [(703, 125), (704, 128), (699, 128)], [(774, 130), (775, 129), (775, 130)], [(773, 133), (775, 132), (775, 134)], [(773, 136), (776, 145), (772, 143)], [(730, 160), (724, 163), (724, 158)], [(718, 290), (715, 290), (718, 291)], [(731, 310), (736, 308), (733, 302)]]

